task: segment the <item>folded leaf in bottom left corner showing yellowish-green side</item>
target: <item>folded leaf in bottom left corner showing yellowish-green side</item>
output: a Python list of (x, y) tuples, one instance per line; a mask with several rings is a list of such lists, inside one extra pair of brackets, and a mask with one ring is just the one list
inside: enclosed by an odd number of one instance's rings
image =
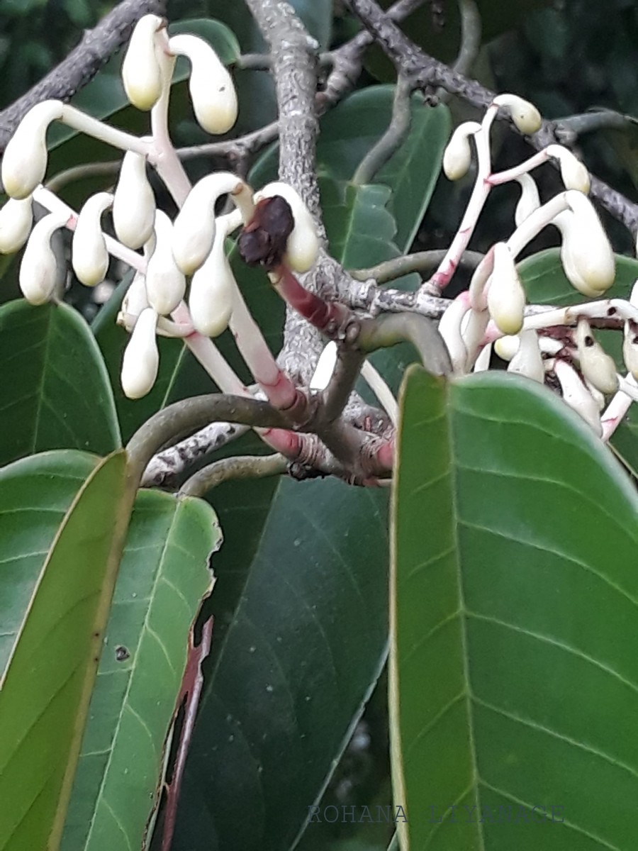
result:
[(128, 518), (126, 456), (58, 450), (0, 471), (0, 848), (60, 841)]

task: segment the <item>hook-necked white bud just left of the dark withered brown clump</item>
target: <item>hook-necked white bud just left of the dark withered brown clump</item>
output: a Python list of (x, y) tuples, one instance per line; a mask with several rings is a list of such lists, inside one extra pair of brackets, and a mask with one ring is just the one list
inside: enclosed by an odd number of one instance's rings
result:
[(173, 226), (173, 256), (185, 275), (202, 266), (215, 237), (215, 204), (230, 193), (244, 221), (253, 214), (253, 193), (241, 178), (228, 171), (198, 180), (186, 197)]

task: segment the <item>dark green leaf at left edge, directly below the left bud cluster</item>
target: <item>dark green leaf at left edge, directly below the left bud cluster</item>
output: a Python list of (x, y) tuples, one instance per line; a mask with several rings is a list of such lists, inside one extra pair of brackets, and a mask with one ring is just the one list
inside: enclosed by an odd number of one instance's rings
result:
[(107, 454), (120, 445), (113, 394), (83, 318), (64, 304), (0, 307), (0, 465), (45, 449)]

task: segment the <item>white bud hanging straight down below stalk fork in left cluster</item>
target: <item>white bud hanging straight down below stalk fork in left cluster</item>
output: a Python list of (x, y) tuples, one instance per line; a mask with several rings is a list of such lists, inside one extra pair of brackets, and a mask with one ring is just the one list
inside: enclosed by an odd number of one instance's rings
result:
[(128, 248), (141, 248), (155, 224), (155, 195), (146, 178), (146, 158), (127, 151), (113, 197), (113, 226)]

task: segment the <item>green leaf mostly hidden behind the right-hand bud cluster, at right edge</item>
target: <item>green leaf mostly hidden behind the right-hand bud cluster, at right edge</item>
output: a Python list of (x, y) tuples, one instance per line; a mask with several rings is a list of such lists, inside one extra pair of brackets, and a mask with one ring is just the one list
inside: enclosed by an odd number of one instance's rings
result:
[[(538, 305), (575, 305), (584, 297), (567, 280), (561, 266), (558, 248), (548, 248), (518, 265), (521, 281), (527, 292), (527, 300)], [(638, 260), (616, 255), (616, 280), (607, 290), (606, 298), (628, 299), (635, 280), (638, 278)], [(618, 332), (598, 332), (598, 339), (609, 354), (616, 359), (618, 369), (625, 371), (621, 355), (621, 336)], [(630, 469), (638, 470), (638, 406), (633, 404), (623, 422), (612, 436), (612, 445), (617, 449)]]

